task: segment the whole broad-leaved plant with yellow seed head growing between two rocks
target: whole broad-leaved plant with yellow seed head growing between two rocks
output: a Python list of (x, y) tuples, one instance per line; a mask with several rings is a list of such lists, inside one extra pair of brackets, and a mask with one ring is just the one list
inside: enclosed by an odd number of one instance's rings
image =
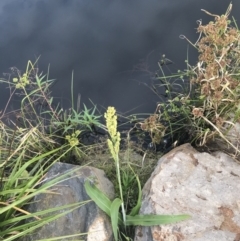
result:
[[(111, 201), (103, 192), (101, 192), (94, 182), (86, 181), (85, 189), (89, 197), (96, 203), (96, 205), (103, 210), (111, 219), (112, 229), (115, 240), (121, 238), (120, 230), (123, 230), (122, 237), (126, 237), (127, 226), (153, 226), (160, 224), (169, 224), (177, 221), (182, 221), (190, 218), (189, 215), (141, 215), (139, 210), (141, 207), (142, 191), (138, 176), (133, 173), (138, 183), (138, 200), (136, 206), (129, 212), (125, 211), (124, 197), (122, 191), (122, 178), (121, 178), (121, 162), (119, 159), (119, 148), (121, 136), (117, 131), (117, 115), (114, 107), (108, 107), (105, 113), (106, 127), (109, 133), (107, 140), (110, 154), (113, 158), (116, 167), (116, 176), (119, 185), (119, 197)], [(121, 208), (121, 211), (119, 211)]]

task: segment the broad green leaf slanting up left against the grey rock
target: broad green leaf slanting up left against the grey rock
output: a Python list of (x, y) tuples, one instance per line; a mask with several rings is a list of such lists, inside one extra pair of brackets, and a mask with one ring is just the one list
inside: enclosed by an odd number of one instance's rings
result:
[(109, 198), (101, 192), (96, 185), (90, 184), (88, 180), (84, 183), (85, 190), (88, 194), (88, 196), (97, 204), (97, 206), (103, 210), (109, 217), (111, 216), (110, 207), (111, 207), (111, 201)]

